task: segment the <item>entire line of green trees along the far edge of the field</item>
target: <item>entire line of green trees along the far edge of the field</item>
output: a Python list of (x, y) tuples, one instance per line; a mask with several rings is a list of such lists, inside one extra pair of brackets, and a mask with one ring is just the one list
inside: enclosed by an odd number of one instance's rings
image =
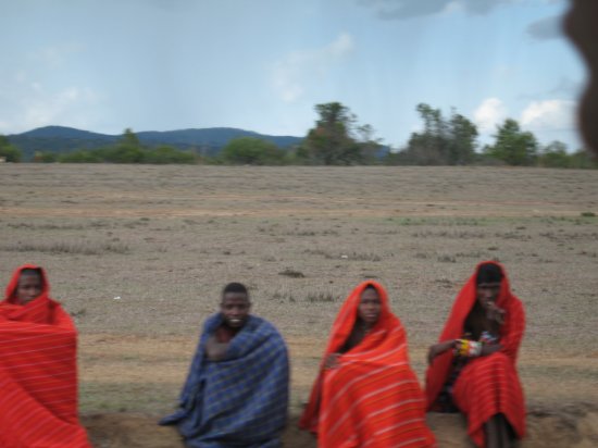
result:
[[(541, 146), (534, 134), (507, 119), (497, 126), (494, 142), (479, 148), (476, 125), (454, 109), (444, 116), (439, 109), (418, 104), (423, 122), (404, 147), (393, 149), (374, 137), (374, 128), (360, 124), (340, 102), (315, 105), (317, 120), (302, 142), (289, 149), (253, 137), (231, 140), (215, 157), (183, 151), (171, 146), (144, 146), (132, 129), (114, 145), (57, 154), (36, 152), (33, 162), (61, 163), (205, 163), (249, 165), (512, 165), (596, 169), (587, 151), (569, 152), (561, 141)], [(18, 148), (0, 136), (0, 157), (8, 162), (22, 159)]]

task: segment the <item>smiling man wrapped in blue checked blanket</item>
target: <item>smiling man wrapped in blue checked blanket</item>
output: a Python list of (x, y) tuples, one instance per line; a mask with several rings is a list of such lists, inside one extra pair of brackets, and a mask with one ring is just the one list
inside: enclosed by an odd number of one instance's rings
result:
[(221, 311), (205, 321), (178, 410), (160, 421), (177, 425), (191, 448), (281, 446), (287, 421), (289, 366), (276, 327), (251, 315), (247, 288), (226, 285)]

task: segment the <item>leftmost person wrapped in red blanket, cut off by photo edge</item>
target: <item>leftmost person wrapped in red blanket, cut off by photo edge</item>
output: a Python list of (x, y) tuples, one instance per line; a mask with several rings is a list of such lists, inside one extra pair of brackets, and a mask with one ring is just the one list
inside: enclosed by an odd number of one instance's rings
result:
[(77, 332), (39, 266), (0, 302), (0, 447), (90, 448), (77, 415)]

